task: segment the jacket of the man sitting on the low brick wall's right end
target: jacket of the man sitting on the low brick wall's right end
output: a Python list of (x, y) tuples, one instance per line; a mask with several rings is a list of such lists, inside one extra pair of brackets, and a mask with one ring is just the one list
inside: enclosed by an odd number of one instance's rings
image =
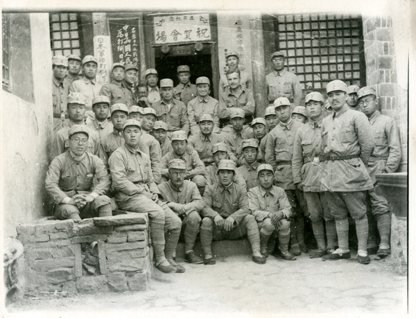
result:
[(139, 149), (124, 144), (108, 159), (116, 202), (125, 202), (144, 191), (159, 194), (154, 180), (150, 158)]

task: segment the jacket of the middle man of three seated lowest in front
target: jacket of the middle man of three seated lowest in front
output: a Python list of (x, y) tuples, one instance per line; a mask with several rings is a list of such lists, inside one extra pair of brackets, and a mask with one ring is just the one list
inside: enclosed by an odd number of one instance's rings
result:
[(202, 199), (205, 203), (201, 212), (202, 218), (208, 217), (214, 220), (216, 215), (224, 219), (231, 216), (236, 224), (240, 224), (243, 218), (250, 214), (247, 191), (234, 182), (227, 187), (222, 184), (207, 186)]

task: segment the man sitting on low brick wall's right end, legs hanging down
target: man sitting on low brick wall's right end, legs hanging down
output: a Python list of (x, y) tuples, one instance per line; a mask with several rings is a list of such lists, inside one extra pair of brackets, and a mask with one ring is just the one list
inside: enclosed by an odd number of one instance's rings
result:
[(108, 160), (116, 203), (123, 211), (148, 213), (156, 268), (164, 273), (182, 273), (184, 267), (173, 260), (182, 221), (160, 200), (150, 158), (139, 149), (140, 123), (128, 119), (122, 133), (125, 143)]

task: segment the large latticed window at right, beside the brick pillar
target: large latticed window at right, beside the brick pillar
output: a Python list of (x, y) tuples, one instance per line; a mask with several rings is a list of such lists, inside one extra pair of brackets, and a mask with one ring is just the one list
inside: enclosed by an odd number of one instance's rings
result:
[(276, 46), (286, 52), (289, 71), (303, 88), (326, 87), (331, 80), (365, 85), (361, 17), (356, 15), (278, 15)]

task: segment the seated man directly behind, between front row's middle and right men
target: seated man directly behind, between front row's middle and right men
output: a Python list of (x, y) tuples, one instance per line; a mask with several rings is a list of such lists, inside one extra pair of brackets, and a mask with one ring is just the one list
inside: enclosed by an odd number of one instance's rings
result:
[(237, 168), (237, 171), (243, 176), (247, 190), (259, 185), (257, 179), (257, 154), (259, 154), (259, 141), (257, 139), (243, 140), (243, 156), (245, 164)]

